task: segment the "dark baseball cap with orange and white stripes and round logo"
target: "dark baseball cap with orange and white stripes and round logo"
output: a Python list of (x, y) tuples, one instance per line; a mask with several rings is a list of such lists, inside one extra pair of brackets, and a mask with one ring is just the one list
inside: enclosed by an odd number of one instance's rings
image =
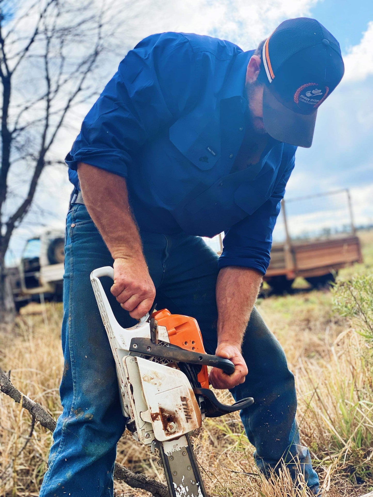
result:
[(316, 19), (287, 19), (264, 43), (262, 61), (267, 133), (280, 142), (310, 147), (317, 109), (343, 77), (338, 41)]

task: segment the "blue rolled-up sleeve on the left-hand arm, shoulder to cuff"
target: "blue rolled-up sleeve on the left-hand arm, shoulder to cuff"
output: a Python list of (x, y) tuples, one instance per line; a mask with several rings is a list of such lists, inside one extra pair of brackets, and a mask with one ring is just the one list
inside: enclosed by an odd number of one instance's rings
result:
[(126, 177), (132, 155), (196, 98), (195, 55), (180, 33), (142, 40), (128, 52), (85, 117), (66, 157)]

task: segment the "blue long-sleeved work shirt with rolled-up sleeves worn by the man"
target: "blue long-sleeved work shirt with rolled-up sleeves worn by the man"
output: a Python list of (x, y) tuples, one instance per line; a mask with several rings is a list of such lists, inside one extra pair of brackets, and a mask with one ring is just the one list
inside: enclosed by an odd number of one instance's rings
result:
[(296, 147), (270, 139), (260, 161), (231, 173), (245, 136), (246, 69), (254, 51), (162, 33), (128, 52), (85, 117), (66, 158), (126, 178), (141, 230), (213, 237), (219, 268), (264, 274)]

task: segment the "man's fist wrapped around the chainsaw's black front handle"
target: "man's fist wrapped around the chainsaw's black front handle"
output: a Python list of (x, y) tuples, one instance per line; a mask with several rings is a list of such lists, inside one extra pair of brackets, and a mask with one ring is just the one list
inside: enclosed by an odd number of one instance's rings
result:
[(248, 369), (246, 362), (241, 355), (240, 348), (237, 345), (222, 342), (217, 346), (215, 354), (232, 361), (235, 365), (235, 369), (234, 373), (227, 375), (219, 368), (212, 368), (208, 375), (208, 379), (213, 388), (233, 388), (240, 383), (244, 383)]

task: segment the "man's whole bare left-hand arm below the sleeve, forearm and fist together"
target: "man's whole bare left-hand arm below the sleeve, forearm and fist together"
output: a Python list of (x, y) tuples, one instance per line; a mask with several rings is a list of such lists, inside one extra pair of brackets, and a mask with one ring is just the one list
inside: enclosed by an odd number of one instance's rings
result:
[(155, 288), (128, 202), (125, 179), (80, 163), (84, 203), (114, 259), (111, 293), (130, 316), (140, 319), (152, 307)]

